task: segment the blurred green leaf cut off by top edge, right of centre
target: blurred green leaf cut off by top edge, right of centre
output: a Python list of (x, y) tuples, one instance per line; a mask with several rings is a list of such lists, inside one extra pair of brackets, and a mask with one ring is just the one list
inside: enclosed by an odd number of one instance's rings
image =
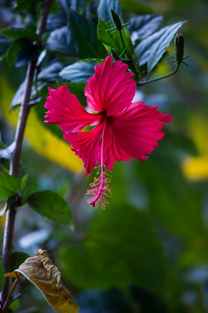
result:
[(119, 0), (122, 10), (128, 12), (134, 12), (138, 14), (154, 13), (154, 10), (138, 0)]

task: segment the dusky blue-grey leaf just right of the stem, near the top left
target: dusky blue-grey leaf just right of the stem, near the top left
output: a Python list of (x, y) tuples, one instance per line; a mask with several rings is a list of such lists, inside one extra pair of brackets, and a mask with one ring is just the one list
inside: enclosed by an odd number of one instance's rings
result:
[(64, 54), (76, 54), (68, 26), (53, 30), (47, 39), (46, 48)]

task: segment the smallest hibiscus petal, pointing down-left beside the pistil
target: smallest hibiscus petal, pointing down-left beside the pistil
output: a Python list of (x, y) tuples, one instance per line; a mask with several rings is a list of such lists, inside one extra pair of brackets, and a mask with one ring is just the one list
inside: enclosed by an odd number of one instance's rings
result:
[(102, 130), (103, 123), (101, 122), (90, 131), (64, 133), (63, 135), (64, 139), (71, 144), (72, 150), (83, 160), (87, 175), (101, 161), (100, 137)]

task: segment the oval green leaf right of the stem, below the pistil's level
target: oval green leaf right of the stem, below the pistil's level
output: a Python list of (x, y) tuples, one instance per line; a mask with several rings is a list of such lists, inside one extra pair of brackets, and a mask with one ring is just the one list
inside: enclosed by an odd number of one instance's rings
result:
[(34, 192), (29, 195), (26, 202), (38, 214), (59, 225), (69, 226), (73, 221), (68, 202), (54, 191)]

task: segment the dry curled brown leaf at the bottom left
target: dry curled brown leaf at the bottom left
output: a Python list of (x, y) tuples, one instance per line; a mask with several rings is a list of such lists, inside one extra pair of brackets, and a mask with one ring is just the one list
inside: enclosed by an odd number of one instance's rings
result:
[[(4, 276), (13, 277), (23, 274), (43, 294), (44, 298), (56, 313), (78, 313), (79, 306), (74, 303), (71, 292), (61, 281), (61, 273), (47, 256), (47, 250), (28, 257), (12, 273)], [(9, 276), (10, 275), (10, 276)]]

